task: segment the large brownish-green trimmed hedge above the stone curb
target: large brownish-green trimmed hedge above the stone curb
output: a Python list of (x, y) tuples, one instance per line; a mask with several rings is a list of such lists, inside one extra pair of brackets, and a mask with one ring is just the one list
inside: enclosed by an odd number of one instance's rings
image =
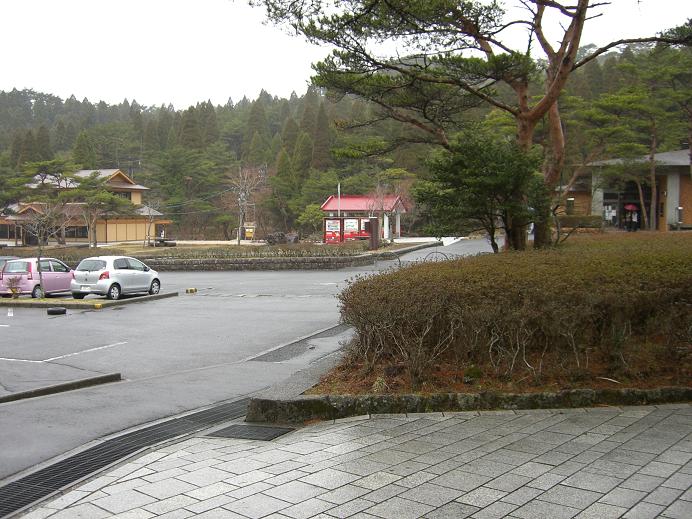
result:
[(646, 376), (655, 350), (689, 371), (692, 236), (584, 236), (419, 264), (353, 280), (339, 301), (356, 330), (349, 360), (403, 366), (414, 388), (442, 359), (538, 382), (595, 365)]

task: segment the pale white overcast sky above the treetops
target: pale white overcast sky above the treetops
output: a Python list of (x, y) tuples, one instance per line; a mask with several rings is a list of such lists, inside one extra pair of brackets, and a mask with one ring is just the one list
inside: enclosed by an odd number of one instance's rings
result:
[[(692, 17), (690, 0), (611, 0), (582, 44), (642, 37)], [(515, 0), (507, 0), (508, 5)], [(243, 0), (0, 0), (0, 90), (186, 108), (305, 92), (328, 49), (262, 24)]]

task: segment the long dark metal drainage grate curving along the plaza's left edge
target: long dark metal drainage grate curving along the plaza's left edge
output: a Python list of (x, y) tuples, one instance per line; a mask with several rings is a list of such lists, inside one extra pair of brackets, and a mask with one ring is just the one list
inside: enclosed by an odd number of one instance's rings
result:
[(240, 418), (246, 414), (249, 401), (244, 398), (221, 404), (123, 434), (8, 483), (0, 487), (0, 518), (27, 508), (140, 449)]

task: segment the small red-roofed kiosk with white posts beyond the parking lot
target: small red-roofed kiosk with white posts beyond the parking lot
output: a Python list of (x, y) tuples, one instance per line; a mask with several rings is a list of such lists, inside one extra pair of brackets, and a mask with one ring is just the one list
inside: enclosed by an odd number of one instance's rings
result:
[[(401, 236), (401, 214), (406, 206), (398, 195), (331, 195), (322, 204), (325, 213), (324, 241), (368, 239), (370, 219), (380, 221), (381, 237), (390, 240)], [(394, 216), (394, 229), (391, 217)]]

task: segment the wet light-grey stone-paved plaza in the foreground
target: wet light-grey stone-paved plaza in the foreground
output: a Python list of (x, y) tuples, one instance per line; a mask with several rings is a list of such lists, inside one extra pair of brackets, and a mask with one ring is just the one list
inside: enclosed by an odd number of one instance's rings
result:
[(152, 449), (24, 517), (692, 517), (692, 406), (350, 418)]

